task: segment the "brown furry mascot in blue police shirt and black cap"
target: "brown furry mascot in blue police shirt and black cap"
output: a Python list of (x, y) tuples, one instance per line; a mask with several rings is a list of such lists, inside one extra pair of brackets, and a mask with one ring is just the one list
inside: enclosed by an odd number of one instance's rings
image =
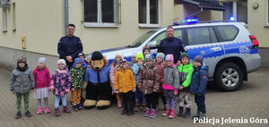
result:
[(109, 83), (108, 61), (99, 51), (94, 51), (89, 60), (91, 67), (85, 73), (84, 89), (86, 90), (85, 109), (97, 107), (105, 109), (110, 106), (112, 89)]

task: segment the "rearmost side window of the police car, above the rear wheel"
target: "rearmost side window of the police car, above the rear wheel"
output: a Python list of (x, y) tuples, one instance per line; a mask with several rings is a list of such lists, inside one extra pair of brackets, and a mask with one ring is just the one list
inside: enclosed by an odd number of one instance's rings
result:
[(216, 30), (219, 32), (221, 41), (230, 41), (237, 37), (239, 29), (235, 26), (216, 26)]

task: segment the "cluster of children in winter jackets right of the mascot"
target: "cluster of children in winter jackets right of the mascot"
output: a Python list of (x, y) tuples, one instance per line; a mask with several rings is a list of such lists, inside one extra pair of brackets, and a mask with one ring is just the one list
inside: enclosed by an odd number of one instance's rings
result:
[[(180, 56), (180, 65), (176, 65), (173, 63), (173, 55), (158, 53), (156, 59), (153, 59), (150, 48), (143, 47), (143, 53), (132, 55), (133, 63), (127, 65), (123, 58), (122, 54), (115, 55), (110, 71), (113, 91), (117, 93), (117, 106), (121, 107), (121, 101), (124, 102), (121, 114), (132, 115), (143, 106), (144, 116), (155, 117), (161, 96), (166, 110), (162, 115), (173, 119), (177, 116), (176, 97), (179, 95), (178, 116), (187, 118), (191, 114), (191, 93), (194, 93), (197, 112), (193, 117), (205, 116), (204, 94), (208, 68), (204, 65), (202, 55), (195, 56), (193, 64), (190, 63), (189, 55), (184, 52)], [(131, 70), (133, 74), (130, 74)], [(135, 107), (132, 98), (134, 92)]]

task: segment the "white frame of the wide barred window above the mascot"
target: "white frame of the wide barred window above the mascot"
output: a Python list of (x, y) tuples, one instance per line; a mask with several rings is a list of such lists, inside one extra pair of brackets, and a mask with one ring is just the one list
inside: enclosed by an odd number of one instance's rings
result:
[[(113, 23), (109, 23), (109, 22), (102, 22), (102, 6), (101, 6), (101, 2), (102, 0), (96, 0), (97, 1), (97, 22), (86, 22), (84, 19), (84, 15), (85, 15), (85, 4), (83, 3), (83, 24), (85, 27), (111, 27), (111, 28), (117, 28), (118, 25), (121, 23), (121, 21), (119, 20), (119, 22), (117, 22), (117, 18), (120, 19), (120, 12), (121, 12), (121, 1), (120, 0), (113, 0), (114, 3), (114, 22)], [(117, 4), (119, 4), (120, 6), (118, 6)], [(119, 11), (119, 13), (117, 13), (117, 10)]]

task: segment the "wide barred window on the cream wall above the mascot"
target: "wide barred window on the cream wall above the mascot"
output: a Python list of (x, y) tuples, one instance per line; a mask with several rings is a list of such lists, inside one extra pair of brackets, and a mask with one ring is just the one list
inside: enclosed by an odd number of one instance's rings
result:
[(84, 0), (86, 27), (112, 27), (120, 21), (120, 0)]

